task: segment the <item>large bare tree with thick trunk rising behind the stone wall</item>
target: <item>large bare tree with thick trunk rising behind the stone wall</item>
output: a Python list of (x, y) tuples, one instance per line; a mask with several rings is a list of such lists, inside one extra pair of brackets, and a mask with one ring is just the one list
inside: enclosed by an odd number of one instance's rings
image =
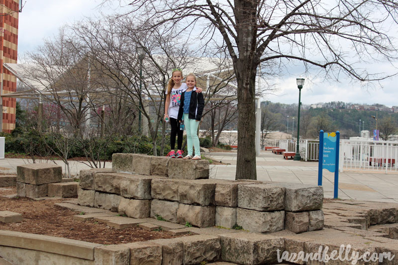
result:
[[(255, 81), (283, 72), (288, 64), (342, 73), (362, 82), (383, 79), (360, 63), (396, 58), (391, 38), (398, 3), (392, 0), (128, 0), (128, 15), (149, 32), (169, 27), (179, 38), (200, 40), (202, 51), (225, 51), (238, 86), (236, 179), (256, 179)], [(388, 27), (384, 27), (388, 25)], [(196, 38), (198, 37), (198, 38)], [(195, 43), (198, 47), (198, 41)]]

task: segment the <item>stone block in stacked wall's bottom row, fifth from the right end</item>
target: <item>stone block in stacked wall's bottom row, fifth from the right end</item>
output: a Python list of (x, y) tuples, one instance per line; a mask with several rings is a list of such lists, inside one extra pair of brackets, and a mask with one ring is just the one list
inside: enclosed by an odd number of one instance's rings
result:
[(177, 210), (177, 223), (185, 224), (186, 222), (198, 227), (213, 226), (215, 207), (180, 203)]

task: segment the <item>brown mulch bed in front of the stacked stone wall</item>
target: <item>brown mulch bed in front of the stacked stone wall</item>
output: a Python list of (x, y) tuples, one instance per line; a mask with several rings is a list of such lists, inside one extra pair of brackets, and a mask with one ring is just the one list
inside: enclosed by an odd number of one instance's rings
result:
[[(15, 193), (15, 187), (0, 188), (0, 196)], [(117, 230), (94, 220), (77, 221), (72, 218), (77, 214), (76, 212), (55, 205), (64, 200), (68, 199), (36, 201), (30, 198), (0, 197), (0, 211), (7, 210), (23, 215), (21, 223), (0, 222), (0, 230), (69, 238), (104, 245), (176, 237), (164, 231), (147, 231), (138, 226)]]

